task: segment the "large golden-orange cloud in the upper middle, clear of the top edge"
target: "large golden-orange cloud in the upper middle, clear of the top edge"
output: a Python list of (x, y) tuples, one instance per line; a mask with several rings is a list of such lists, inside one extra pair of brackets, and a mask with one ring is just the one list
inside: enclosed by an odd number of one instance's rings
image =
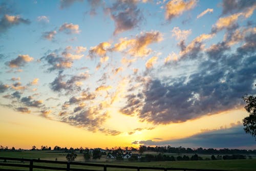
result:
[(127, 49), (126, 53), (128, 54), (143, 57), (149, 55), (152, 51), (150, 48), (147, 48), (148, 45), (153, 44), (154, 42), (159, 42), (162, 39), (162, 34), (160, 32), (145, 32), (136, 36), (135, 39), (120, 39), (119, 43), (115, 44), (111, 51), (124, 51)]

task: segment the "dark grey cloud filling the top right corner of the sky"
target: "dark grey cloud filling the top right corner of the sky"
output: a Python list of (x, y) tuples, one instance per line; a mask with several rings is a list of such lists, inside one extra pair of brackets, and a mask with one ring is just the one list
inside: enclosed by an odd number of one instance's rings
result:
[(252, 7), (255, 4), (255, 0), (223, 0), (222, 14), (239, 12), (244, 10), (245, 8)]

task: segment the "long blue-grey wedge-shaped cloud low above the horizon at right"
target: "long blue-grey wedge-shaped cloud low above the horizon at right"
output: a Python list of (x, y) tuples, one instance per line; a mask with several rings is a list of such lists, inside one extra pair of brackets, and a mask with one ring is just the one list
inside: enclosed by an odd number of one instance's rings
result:
[(166, 141), (134, 141), (133, 144), (171, 145), (203, 148), (249, 148), (255, 146), (252, 136), (245, 134), (242, 125), (199, 133), (190, 137)]

